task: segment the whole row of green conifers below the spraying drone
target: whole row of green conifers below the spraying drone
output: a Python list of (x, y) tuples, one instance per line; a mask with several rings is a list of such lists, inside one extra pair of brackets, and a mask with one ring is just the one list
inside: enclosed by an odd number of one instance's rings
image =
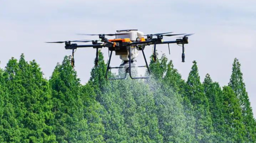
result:
[(85, 85), (70, 61), (49, 80), (23, 54), (0, 69), (0, 143), (256, 143), (237, 59), (224, 87), (200, 82), (196, 61), (185, 81), (165, 55), (150, 79), (109, 81), (100, 52)]

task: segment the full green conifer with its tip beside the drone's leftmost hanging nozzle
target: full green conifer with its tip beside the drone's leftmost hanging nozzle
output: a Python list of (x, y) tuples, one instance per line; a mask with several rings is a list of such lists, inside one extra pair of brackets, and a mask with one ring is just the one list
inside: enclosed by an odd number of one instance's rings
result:
[(90, 143), (80, 98), (81, 85), (70, 61), (70, 57), (64, 57), (49, 80), (53, 93), (52, 111), (55, 115), (53, 132), (59, 143)]

